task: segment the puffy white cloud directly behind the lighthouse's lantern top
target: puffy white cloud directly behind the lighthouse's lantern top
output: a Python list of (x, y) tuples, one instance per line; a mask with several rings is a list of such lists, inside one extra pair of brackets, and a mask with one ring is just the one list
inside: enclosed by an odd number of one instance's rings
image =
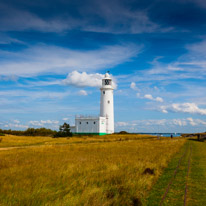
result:
[[(63, 84), (72, 85), (76, 87), (101, 87), (103, 74), (87, 74), (86, 72), (73, 71), (68, 74), (67, 78), (63, 80)], [(113, 87), (116, 88), (115, 79), (113, 79)]]

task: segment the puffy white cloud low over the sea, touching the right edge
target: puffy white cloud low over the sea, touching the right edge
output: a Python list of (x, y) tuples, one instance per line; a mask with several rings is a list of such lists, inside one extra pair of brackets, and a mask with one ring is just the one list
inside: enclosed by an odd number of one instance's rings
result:
[(181, 103), (181, 104), (174, 103), (167, 106), (161, 106), (160, 109), (164, 113), (171, 111), (171, 112), (206, 115), (206, 109), (200, 109), (198, 105), (195, 103)]

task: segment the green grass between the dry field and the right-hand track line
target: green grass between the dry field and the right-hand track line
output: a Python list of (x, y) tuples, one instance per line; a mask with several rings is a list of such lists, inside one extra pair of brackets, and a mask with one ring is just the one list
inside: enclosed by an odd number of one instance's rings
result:
[[(189, 152), (188, 151), (189, 142), (181, 148), (180, 152), (178, 152), (171, 162), (168, 164), (167, 168), (164, 169), (163, 174), (158, 179), (157, 183), (152, 188), (146, 205), (160, 205), (163, 195), (168, 187), (168, 184), (173, 181), (170, 185), (169, 192), (162, 205), (182, 205), (184, 202), (184, 188), (185, 188), (185, 177), (187, 173), (187, 163)], [(185, 153), (186, 152), (186, 153)], [(177, 168), (180, 158), (185, 154), (182, 158), (178, 172), (174, 177), (174, 172)]]

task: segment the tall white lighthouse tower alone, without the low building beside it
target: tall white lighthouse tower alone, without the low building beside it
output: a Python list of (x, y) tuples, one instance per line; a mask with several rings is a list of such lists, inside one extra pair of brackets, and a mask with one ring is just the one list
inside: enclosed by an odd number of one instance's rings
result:
[(100, 117), (106, 118), (106, 133), (114, 133), (114, 103), (112, 79), (108, 73), (102, 79)]

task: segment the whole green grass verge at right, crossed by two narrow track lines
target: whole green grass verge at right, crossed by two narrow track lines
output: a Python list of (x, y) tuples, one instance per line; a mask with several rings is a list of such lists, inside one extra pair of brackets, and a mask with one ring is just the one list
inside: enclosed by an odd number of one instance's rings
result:
[(178, 153), (172, 159), (168, 167), (158, 179), (157, 183), (152, 188), (146, 205), (160, 205), (165, 190), (171, 179), (174, 177), (174, 171), (178, 165), (178, 161), (184, 152), (186, 152), (185, 156), (182, 158), (178, 172), (162, 205), (184, 204), (186, 175), (190, 156), (189, 146), (191, 146), (192, 152), (189, 178), (187, 183), (187, 205), (206, 205), (206, 143), (198, 142), (196, 140), (187, 140), (184, 147), (180, 150), (180, 153)]

